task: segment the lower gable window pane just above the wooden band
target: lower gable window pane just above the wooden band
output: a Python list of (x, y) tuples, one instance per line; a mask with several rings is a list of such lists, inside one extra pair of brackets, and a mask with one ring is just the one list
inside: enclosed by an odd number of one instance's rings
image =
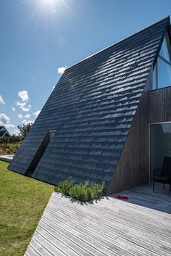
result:
[(171, 86), (171, 66), (158, 57), (158, 88)]

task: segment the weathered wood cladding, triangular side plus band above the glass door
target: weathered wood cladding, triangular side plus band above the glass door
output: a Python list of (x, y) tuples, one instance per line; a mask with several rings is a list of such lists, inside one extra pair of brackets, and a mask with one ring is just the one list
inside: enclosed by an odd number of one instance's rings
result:
[(149, 183), (149, 123), (171, 121), (171, 87), (149, 91), (151, 76), (146, 83), (108, 194)]

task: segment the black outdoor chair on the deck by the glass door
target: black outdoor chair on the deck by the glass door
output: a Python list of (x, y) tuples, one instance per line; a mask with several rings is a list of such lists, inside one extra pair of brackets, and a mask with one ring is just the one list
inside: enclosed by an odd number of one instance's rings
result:
[[(154, 170), (153, 172), (153, 191), (155, 182), (167, 183), (171, 186), (171, 157), (164, 157), (162, 170)], [(170, 193), (169, 193), (170, 194)]]

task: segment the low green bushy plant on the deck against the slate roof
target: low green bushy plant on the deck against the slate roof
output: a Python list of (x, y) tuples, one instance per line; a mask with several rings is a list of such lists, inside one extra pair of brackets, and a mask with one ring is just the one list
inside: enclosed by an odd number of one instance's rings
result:
[(104, 182), (101, 185), (98, 183), (90, 184), (89, 181), (85, 183), (75, 183), (72, 178), (68, 178), (60, 182), (59, 186), (55, 186), (54, 191), (83, 202), (88, 202), (93, 199), (100, 199), (104, 193), (104, 189)]

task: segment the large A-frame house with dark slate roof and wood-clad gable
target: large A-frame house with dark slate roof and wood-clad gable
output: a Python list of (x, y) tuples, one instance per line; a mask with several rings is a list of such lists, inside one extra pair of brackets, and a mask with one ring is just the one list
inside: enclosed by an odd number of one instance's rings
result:
[(9, 170), (107, 193), (150, 181), (171, 155), (170, 18), (68, 67)]

